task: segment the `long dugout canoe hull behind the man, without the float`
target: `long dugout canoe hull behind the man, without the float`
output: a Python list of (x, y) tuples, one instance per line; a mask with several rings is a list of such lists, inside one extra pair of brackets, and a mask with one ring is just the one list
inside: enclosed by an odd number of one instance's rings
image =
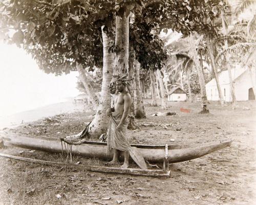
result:
[[(48, 138), (42, 136), (29, 136), (21, 134), (0, 133), (0, 139), (3, 139), (5, 146), (14, 146), (46, 152), (61, 153), (62, 146), (60, 139)], [(209, 154), (211, 152), (229, 147), (231, 140), (219, 142), (190, 145), (168, 145), (168, 163), (178, 163), (193, 160)], [(151, 163), (162, 163), (166, 154), (165, 145), (131, 145), (138, 148), (144, 159)], [(86, 141), (81, 145), (72, 146), (72, 153), (86, 157), (101, 158), (111, 160), (113, 155), (106, 154), (106, 143)]]

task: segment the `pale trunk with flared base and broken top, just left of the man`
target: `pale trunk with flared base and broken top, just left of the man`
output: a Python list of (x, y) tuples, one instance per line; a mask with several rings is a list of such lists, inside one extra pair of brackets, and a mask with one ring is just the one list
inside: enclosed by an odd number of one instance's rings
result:
[(106, 133), (108, 129), (109, 117), (106, 116), (106, 109), (110, 107), (111, 96), (109, 94), (109, 84), (112, 79), (114, 54), (109, 52), (112, 45), (111, 39), (102, 30), (103, 41), (103, 69), (100, 101), (96, 115), (89, 125), (88, 134), (90, 138), (98, 139), (102, 133)]

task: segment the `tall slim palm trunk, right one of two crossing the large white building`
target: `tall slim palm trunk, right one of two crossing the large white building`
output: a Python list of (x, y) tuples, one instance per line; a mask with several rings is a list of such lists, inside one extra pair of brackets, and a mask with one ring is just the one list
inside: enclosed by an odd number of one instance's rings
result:
[[(222, 29), (224, 36), (227, 35), (227, 28), (225, 25), (225, 16), (223, 10), (221, 11), (221, 19), (222, 19)], [(228, 49), (228, 42), (227, 39), (225, 39), (225, 49)], [(228, 77), (229, 77), (229, 85), (230, 85), (230, 96), (232, 98), (232, 106), (233, 108), (238, 107), (236, 96), (234, 95), (234, 85), (233, 85), (233, 79), (232, 79), (232, 73), (231, 73), (231, 67), (229, 64), (229, 53), (226, 53), (226, 62), (227, 62), (227, 70), (228, 70)]]

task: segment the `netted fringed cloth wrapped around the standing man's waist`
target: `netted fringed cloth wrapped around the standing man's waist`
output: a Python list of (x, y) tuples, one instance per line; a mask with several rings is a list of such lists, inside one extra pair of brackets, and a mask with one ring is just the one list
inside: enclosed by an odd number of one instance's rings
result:
[[(121, 121), (122, 116), (115, 112), (112, 112), (112, 116), (118, 125), (119, 122)], [(126, 139), (127, 139), (127, 137), (126, 137), (127, 126), (128, 126), (128, 120), (126, 118), (125, 121), (123, 122), (122, 128), (121, 128), (121, 131)], [(112, 151), (112, 149), (117, 149), (120, 151), (128, 150), (129, 144), (125, 142), (121, 133), (116, 131), (116, 125), (114, 124), (112, 119), (110, 119), (110, 122), (109, 122), (107, 135), (108, 135), (108, 151), (107, 151), (107, 153), (110, 153)], [(128, 139), (127, 139), (127, 141), (128, 141)]]

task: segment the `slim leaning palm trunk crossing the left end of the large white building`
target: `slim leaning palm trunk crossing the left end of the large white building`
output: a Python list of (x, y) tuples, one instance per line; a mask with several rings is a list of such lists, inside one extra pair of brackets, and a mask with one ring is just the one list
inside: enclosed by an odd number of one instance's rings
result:
[(211, 67), (212, 67), (212, 70), (214, 70), (214, 75), (215, 75), (215, 80), (216, 80), (217, 89), (218, 89), (218, 93), (219, 93), (220, 103), (221, 103), (221, 106), (224, 106), (225, 102), (224, 102), (222, 91), (221, 91), (220, 80), (219, 80), (219, 76), (218, 76), (218, 72), (217, 72), (214, 54), (212, 53), (213, 48), (212, 48), (212, 44), (209, 39), (207, 39), (207, 44), (208, 44), (208, 54), (210, 56)]

